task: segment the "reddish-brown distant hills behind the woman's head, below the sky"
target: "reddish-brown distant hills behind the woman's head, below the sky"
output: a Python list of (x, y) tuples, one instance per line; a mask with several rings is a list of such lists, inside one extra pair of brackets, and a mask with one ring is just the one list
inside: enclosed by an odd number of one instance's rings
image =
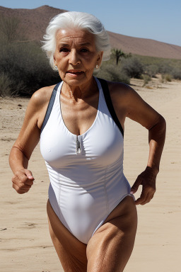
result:
[[(51, 6), (40, 6), (34, 9), (4, 8), (0, 6), (0, 17), (6, 16), (20, 19), (28, 40), (42, 40), (49, 20), (62, 12), (65, 12), (65, 10)], [(110, 31), (108, 33), (112, 47), (121, 48), (124, 52), (151, 57), (181, 59), (180, 46), (151, 39), (134, 38)]]

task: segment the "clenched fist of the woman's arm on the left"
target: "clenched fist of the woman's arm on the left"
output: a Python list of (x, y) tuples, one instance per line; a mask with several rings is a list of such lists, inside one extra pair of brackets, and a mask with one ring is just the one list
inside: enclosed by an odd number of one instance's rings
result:
[(31, 186), (33, 186), (33, 174), (28, 169), (16, 171), (12, 178), (13, 188), (17, 193), (28, 193)]

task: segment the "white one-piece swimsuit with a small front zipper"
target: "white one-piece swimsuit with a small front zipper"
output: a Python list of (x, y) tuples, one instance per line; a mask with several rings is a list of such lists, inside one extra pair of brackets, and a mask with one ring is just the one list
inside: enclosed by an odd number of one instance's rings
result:
[[(40, 135), (49, 173), (49, 202), (62, 224), (87, 244), (112, 210), (130, 194), (123, 174), (123, 135), (107, 108), (100, 81), (93, 125), (74, 135), (64, 124), (56, 86)], [(53, 97), (54, 96), (54, 97)]]

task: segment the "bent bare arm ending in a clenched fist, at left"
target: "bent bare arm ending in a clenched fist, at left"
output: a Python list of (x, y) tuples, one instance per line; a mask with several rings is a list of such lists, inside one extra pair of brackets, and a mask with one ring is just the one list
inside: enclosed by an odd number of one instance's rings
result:
[(18, 139), (14, 143), (9, 155), (9, 164), (13, 171), (13, 188), (18, 193), (26, 193), (33, 185), (33, 174), (28, 170), (28, 161), (40, 140), (40, 128), (38, 121), (44, 100), (41, 91), (35, 93), (28, 103), (25, 119)]

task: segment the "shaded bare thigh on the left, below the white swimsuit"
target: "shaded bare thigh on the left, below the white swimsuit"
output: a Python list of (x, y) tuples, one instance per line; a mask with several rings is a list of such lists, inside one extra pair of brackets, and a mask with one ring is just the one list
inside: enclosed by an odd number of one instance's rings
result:
[(47, 202), (49, 233), (59, 260), (66, 272), (86, 272), (86, 244), (78, 241), (59, 221), (52, 206)]

